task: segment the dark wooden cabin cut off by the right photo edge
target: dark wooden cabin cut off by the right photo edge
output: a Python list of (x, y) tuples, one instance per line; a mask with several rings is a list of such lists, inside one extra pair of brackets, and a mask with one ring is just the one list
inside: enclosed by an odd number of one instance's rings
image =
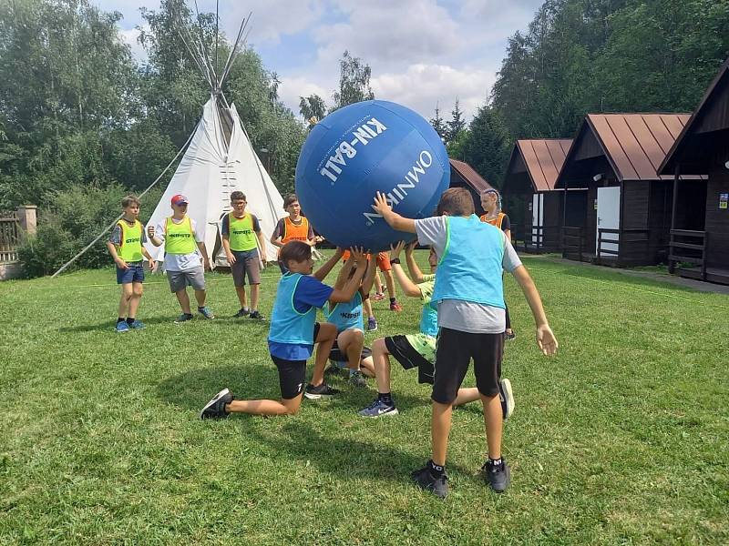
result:
[(673, 175), (670, 270), (729, 284), (729, 59), (659, 172)]

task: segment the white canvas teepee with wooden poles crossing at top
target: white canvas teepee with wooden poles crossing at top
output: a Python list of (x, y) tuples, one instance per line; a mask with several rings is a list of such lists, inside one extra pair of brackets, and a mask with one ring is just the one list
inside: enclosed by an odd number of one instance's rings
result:
[[(190, 34), (187, 40), (180, 35), (188, 46), (190, 56), (210, 84), (210, 99), (202, 109), (202, 118), (190, 145), (148, 224), (156, 227), (165, 217), (171, 216), (172, 196), (181, 194), (187, 197), (190, 200), (188, 216), (195, 220), (198, 230), (205, 233), (210, 263), (222, 266), (228, 263), (221, 250), (221, 219), (231, 211), (233, 191), (239, 190), (245, 194), (248, 201), (246, 211), (258, 217), (266, 241), (271, 238), (279, 218), (286, 215), (281, 194), (253, 150), (235, 105), (229, 106), (221, 91), (246, 23), (244, 20), (241, 24), (238, 39), (220, 77), (216, 75), (210, 57), (204, 53), (203, 45), (196, 44)], [(157, 261), (163, 259), (164, 246), (154, 247), (148, 243), (146, 247)], [(272, 244), (266, 245), (266, 258), (269, 261), (276, 259), (276, 250)]]

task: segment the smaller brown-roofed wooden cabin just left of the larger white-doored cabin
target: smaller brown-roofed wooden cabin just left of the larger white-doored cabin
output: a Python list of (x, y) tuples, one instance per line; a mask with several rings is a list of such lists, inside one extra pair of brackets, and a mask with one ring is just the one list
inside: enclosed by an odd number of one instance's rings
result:
[[(504, 211), (511, 219), (511, 232), (526, 252), (558, 252), (561, 249), (560, 229), (565, 203), (562, 190), (555, 190), (554, 183), (571, 144), (570, 138), (518, 140), (511, 151), (501, 193)], [(570, 197), (575, 195), (576, 192), (571, 192)], [(569, 198), (567, 207), (582, 211), (585, 204)]]

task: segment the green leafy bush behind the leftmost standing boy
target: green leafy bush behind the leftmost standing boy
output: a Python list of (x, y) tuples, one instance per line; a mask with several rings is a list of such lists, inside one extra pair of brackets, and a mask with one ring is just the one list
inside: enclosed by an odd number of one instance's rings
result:
[[(27, 238), (18, 249), (26, 277), (55, 273), (76, 256), (121, 214), (121, 198), (127, 194), (128, 190), (118, 184), (103, 188), (74, 186), (53, 192), (48, 206), (38, 209), (36, 237)], [(162, 188), (154, 188), (142, 197), (142, 223), (151, 216), (161, 194)], [(108, 266), (111, 258), (107, 240), (108, 235), (100, 238), (71, 268)]]

